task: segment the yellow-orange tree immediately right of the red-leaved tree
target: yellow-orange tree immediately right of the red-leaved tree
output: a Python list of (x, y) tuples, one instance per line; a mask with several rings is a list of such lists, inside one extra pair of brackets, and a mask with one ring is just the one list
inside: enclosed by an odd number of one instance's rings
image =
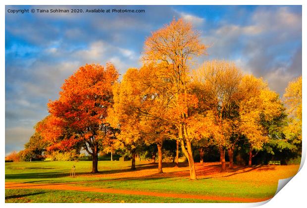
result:
[(131, 153), (131, 170), (135, 170), (135, 158), (138, 146), (143, 144), (141, 115), (136, 108), (142, 105), (141, 91), (137, 87), (138, 70), (128, 69), (120, 83), (113, 87), (114, 104), (108, 110), (107, 121), (112, 127), (120, 129), (115, 142), (116, 148)]

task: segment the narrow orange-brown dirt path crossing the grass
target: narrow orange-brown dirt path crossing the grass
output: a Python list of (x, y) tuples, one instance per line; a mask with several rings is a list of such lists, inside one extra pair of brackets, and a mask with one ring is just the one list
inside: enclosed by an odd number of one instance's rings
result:
[(134, 191), (134, 190), (92, 188), (84, 186), (72, 186), (69, 185), (69, 183), (55, 183), (55, 184), (5, 183), (5, 189), (51, 189), (51, 190), (63, 190), (63, 191), (86, 191), (86, 192), (98, 192), (98, 193), (108, 193), (108, 194), (128, 194), (128, 195), (138, 195), (138, 196), (200, 199), (200, 200), (210, 200), (210, 201), (230, 201), (230, 202), (242, 202), (242, 203), (262, 202), (271, 199), (271, 198), (236, 198), (236, 197), (222, 197), (222, 196), (203, 196), (203, 195), (192, 195), (192, 194), (171, 194), (171, 193), (146, 192), (146, 191)]

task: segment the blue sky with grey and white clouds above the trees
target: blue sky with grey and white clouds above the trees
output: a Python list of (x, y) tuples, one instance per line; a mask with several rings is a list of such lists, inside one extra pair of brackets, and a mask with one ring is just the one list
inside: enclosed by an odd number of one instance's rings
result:
[[(24, 13), (22, 8), (127, 8), (145, 13)], [(139, 67), (143, 43), (173, 17), (189, 21), (209, 59), (234, 61), (284, 93), (302, 74), (302, 6), (6, 6), (5, 154), (23, 149), (64, 80), (85, 63)]]

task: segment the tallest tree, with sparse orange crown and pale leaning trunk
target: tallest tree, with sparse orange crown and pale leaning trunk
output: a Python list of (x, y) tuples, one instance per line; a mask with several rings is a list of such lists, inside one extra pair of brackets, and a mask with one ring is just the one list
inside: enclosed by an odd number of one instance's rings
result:
[[(155, 70), (151, 80), (147, 79), (148, 88), (154, 89), (147, 98), (161, 101), (156, 102), (160, 106), (144, 113), (175, 126), (182, 152), (189, 161), (190, 179), (196, 179), (196, 170), (187, 121), (192, 116), (189, 108), (197, 105), (197, 99), (189, 94), (187, 84), (189, 64), (195, 55), (203, 54), (206, 49), (199, 36), (191, 24), (173, 19), (147, 38), (143, 53), (144, 63), (154, 64)], [(161, 111), (157, 111), (158, 108)]]

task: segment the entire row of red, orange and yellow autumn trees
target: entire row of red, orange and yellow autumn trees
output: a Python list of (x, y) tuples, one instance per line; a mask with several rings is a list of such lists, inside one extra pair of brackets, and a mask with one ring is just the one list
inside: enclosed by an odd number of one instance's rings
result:
[(146, 39), (143, 65), (129, 68), (122, 80), (111, 63), (81, 66), (49, 102), (49, 115), (38, 122), (24, 153), (85, 150), (97, 173), (101, 152), (126, 152), (135, 169), (137, 153), (148, 150), (153, 160), (158, 152), (163, 173), (163, 144), (171, 149), (176, 143), (176, 160), (180, 144), (190, 179), (197, 179), (196, 149), (201, 162), (205, 149), (218, 152), (222, 171), (227, 153), (234, 168), (234, 156), (242, 150), (249, 165), (259, 152), (299, 152), (302, 77), (289, 83), (281, 100), (265, 80), (232, 62), (196, 66), (195, 58), (206, 49), (190, 23), (173, 19)]

